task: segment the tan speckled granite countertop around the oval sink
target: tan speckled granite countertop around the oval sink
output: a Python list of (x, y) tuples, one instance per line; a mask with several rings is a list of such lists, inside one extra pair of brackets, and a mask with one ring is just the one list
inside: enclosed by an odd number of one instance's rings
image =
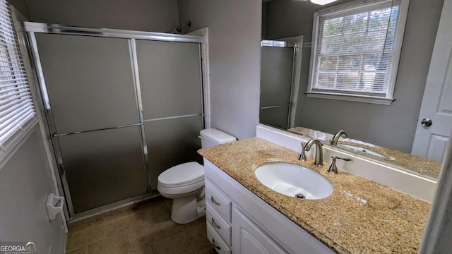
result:
[[(249, 191), (338, 253), (417, 253), (429, 203), (328, 165), (300, 162), (296, 152), (260, 138), (198, 150)], [(287, 162), (319, 172), (333, 183), (333, 194), (302, 200), (270, 190), (254, 170), (266, 162)]]

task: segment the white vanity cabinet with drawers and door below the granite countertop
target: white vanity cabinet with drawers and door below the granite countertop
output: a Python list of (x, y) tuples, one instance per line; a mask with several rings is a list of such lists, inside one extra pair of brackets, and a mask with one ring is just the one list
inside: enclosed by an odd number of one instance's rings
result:
[(334, 253), (207, 159), (204, 168), (207, 236), (218, 253)]

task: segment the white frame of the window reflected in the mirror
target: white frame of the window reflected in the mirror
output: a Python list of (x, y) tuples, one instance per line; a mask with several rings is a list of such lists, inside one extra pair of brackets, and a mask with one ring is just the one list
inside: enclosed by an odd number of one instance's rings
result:
[[(369, 0), (369, 1), (352, 1), (347, 4), (340, 4), (338, 6), (332, 6), (330, 8), (325, 8), (314, 13), (314, 22), (312, 28), (312, 48), (311, 48), (311, 61), (309, 66), (309, 82), (307, 87), (307, 92), (304, 92), (307, 97), (321, 98), (321, 99), (337, 99), (345, 100), (350, 102), (365, 102), (371, 104), (383, 104), (391, 105), (395, 100), (394, 88), (396, 86), (396, 78), (398, 72), (398, 63), (400, 60), (400, 52), (402, 51), (403, 35), (405, 33), (405, 24), (408, 16), (408, 6), (410, 0), (400, 0), (400, 10), (399, 10), (399, 20), (398, 20), (398, 30), (396, 33), (396, 43), (394, 44), (393, 50), (393, 63), (391, 65), (391, 75), (388, 81), (388, 90), (386, 91), (385, 97), (372, 96), (369, 95), (357, 95), (345, 92), (320, 92), (312, 89), (312, 84), (314, 82), (314, 66), (316, 59), (316, 48), (317, 48), (317, 34), (319, 18), (321, 16), (347, 16), (347, 13), (355, 10), (356, 8), (365, 8), (366, 6), (373, 6), (376, 4), (391, 3), (392, 0)], [(343, 13), (343, 15), (340, 15)]]

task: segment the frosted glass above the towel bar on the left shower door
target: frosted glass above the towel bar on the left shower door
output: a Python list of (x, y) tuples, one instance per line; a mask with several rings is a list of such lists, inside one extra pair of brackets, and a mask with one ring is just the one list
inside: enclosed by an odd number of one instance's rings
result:
[(128, 40), (35, 36), (57, 133), (138, 123)]

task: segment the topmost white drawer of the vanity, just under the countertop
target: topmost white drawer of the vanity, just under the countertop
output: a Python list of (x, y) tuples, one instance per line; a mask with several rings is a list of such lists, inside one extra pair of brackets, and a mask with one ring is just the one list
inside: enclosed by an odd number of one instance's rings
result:
[(231, 222), (231, 200), (215, 188), (210, 181), (206, 181), (206, 203), (212, 205), (227, 222)]

